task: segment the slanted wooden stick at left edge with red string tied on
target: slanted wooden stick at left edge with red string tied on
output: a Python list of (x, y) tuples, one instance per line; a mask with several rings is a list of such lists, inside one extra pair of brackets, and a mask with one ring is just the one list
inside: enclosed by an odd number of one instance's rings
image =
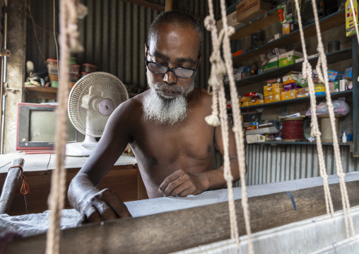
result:
[[(24, 165), (23, 158), (16, 158), (11, 163), (11, 166), (18, 166), (18, 165), (23, 167)], [(21, 175), (20, 167), (11, 168), (8, 171), (8, 175), (6, 175), (5, 183), (0, 197), (0, 214), (8, 213), (11, 206), (11, 202), (13, 202), (13, 196), (15, 195), (15, 191), (16, 191), (15, 187), (16, 184), (18, 183), (18, 178), (20, 178), (20, 175)]]

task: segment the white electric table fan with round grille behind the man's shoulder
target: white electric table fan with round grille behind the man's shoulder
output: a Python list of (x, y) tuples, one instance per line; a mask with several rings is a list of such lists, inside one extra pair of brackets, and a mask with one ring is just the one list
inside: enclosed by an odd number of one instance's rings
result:
[(66, 156), (90, 156), (107, 120), (118, 105), (129, 99), (126, 86), (116, 76), (93, 72), (78, 80), (69, 95), (69, 118), (85, 134), (83, 142), (66, 144)]

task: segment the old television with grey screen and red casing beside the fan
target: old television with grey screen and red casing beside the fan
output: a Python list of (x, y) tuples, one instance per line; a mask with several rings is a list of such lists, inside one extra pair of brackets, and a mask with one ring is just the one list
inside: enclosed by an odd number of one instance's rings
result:
[[(57, 105), (18, 103), (16, 150), (29, 153), (54, 150)], [(85, 135), (67, 119), (68, 142), (82, 142)]]

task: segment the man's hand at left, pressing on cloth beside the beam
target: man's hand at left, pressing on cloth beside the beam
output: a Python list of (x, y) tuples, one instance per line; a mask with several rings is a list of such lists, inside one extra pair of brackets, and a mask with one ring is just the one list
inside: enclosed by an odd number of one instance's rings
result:
[(110, 189), (101, 190), (91, 196), (81, 209), (81, 214), (83, 214), (82, 224), (132, 217), (126, 205)]

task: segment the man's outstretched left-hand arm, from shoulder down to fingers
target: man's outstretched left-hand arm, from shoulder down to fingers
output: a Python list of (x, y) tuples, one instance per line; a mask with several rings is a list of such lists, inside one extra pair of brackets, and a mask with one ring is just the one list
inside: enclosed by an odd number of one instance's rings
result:
[(116, 193), (97, 188), (131, 140), (126, 131), (126, 121), (123, 120), (124, 108), (120, 106), (112, 113), (100, 142), (69, 186), (71, 206), (83, 214), (84, 221), (131, 217)]

